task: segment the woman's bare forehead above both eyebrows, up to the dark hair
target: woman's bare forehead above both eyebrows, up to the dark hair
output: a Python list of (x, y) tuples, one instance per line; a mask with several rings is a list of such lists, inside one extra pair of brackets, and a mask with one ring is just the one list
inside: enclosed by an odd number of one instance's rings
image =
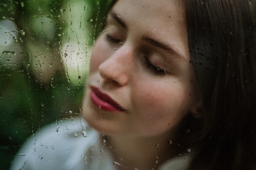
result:
[(147, 34), (189, 56), (183, 0), (118, 0), (111, 13), (125, 23), (128, 34)]

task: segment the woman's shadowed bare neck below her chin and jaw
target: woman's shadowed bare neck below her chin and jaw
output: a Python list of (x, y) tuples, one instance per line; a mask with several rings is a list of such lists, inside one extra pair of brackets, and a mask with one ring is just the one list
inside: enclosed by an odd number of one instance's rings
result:
[(107, 136), (105, 140), (111, 149), (114, 161), (121, 164), (116, 164), (119, 170), (127, 168), (156, 170), (167, 160), (178, 154), (183, 155), (189, 148), (188, 144), (180, 143), (177, 136), (170, 132), (150, 137)]

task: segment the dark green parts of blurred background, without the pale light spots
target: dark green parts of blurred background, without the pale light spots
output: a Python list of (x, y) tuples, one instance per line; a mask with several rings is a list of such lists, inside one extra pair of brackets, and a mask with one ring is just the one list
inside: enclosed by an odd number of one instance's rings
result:
[[(22, 5), (23, 2), (23, 5)], [(90, 12), (88, 17), (91, 22), (92, 31), (87, 37), (88, 45), (93, 44), (105, 23), (105, 17), (111, 0), (87, 0)], [(40, 127), (43, 127), (56, 120), (70, 116), (79, 116), (84, 84), (87, 75), (81, 75), (80, 84), (68, 81), (64, 62), (60, 62), (61, 54), (59, 42), (63, 30), (68, 29), (67, 22), (61, 18), (60, 8), (67, 1), (62, 0), (32, 0), (12, 1), (0, 0), (0, 21), (11, 20), (17, 25), (18, 30), (24, 30), (25, 35), (17, 40), (16, 46), (25, 51), (19, 62), (9, 62), (6, 57), (19, 57), (19, 50), (16, 55), (0, 54), (0, 169), (7, 170), (17, 150), (23, 142)], [(68, 9), (66, 9), (68, 10)], [(33, 17), (41, 14), (52, 15), (54, 35), (51, 40), (45, 41), (39, 34), (33, 32)], [(4, 16), (4, 18), (3, 18)], [(30, 23), (30, 24), (29, 24)], [(4, 29), (0, 25), (0, 29)], [(78, 26), (79, 27), (79, 26)], [(28, 31), (28, 30), (32, 31)], [(29, 63), (29, 54), (26, 52), (28, 45), (38, 45), (38, 51), (44, 55), (42, 46), (48, 47), (55, 57), (52, 67), (51, 82), (44, 82), (33, 74), (33, 65)], [(1, 48), (1, 47), (0, 47)], [(15, 47), (12, 47), (15, 51)], [(46, 57), (50, 57), (47, 55)], [(39, 67), (39, 65), (38, 65)], [(70, 112), (71, 111), (71, 112)]]

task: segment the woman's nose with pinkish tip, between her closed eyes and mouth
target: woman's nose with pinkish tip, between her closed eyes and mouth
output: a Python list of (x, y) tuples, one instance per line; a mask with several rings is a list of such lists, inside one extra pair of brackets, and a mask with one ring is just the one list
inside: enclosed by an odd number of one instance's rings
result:
[(105, 80), (112, 80), (123, 86), (129, 82), (133, 61), (133, 50), (123, 45), (99, 65), (99, 74)]

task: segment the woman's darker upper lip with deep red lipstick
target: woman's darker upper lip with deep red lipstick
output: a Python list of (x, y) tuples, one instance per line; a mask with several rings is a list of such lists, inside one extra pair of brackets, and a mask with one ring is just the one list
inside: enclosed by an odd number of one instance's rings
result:
[(117, 102), (115, 102), (113, 99), (111, 99), (110, 96), (108, 96), (107, 94), (103, 93), (102, 91), (99, 90), (99, 88), (95, 87), (95, 86), (91, 86), (90, 87), (92, 89), (92, 91), (99, 96), (100, 99), (102, 99), (103, 101), (107, 102), (110, 105), (113, 105), (117, 110), (120, 111), (126, 111), (124, 108), (122, 108)]

